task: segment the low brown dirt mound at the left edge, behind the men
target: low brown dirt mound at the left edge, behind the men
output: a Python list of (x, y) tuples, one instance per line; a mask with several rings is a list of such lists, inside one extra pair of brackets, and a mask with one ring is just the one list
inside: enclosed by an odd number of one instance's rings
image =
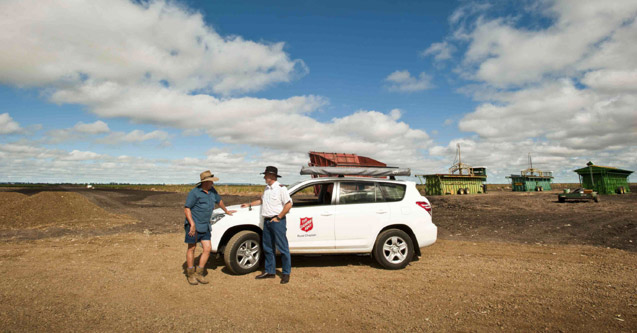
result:
[(110, 228), (134, 223), (131, 217), (109, 213), (78, 193), (40, 192), (32, 196), (0, 193), (0, 228)]

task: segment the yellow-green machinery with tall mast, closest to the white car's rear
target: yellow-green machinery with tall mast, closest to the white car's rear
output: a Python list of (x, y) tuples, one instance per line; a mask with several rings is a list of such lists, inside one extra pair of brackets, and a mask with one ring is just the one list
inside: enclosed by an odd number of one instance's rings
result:
[(425, 185), (427, 195), (485, 192), (484, 182), (487, 180), (487, 169), (462, 163), (460, 145), (458, 145), (456, 157), (458, 163), (449, 168), (448, 174), (416, 175), (420, 183)]

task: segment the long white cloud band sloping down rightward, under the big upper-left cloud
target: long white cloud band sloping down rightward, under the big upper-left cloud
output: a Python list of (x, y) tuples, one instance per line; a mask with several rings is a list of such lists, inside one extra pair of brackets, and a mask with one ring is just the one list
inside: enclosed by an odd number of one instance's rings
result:
[[(310, 114), (326, 101), (316, 96), (285, 100), (251, 97), (218, 99), (209, 95), (183, 94), (167, 88), (126, 88), (115, 84), (87, 83), (75, 89), (60, 90), (52, 96), (52, 100), (91, 105), (93, 112), (102, 117), (127, 117), (135, 122), (185, 130), (203, 129), (224, 143), (295, 152), (333, 150), (333, 147), (373, 152), (389, 142), (416, 151), (428, 143), (422, 140), (428, 138), (424, 131), (411, 129), (406, 123), (398, 121), (400, 111), (385, 115), (361, 110), (331, 122), (319, 122)], [(147, 112), (149, 109), (153, 112)], [(342, 126), (343, 123), (347, 125)], [(389, 138), (387, 133), (393, 137)], [(394, 157), (398, 156), (396, 153)]]

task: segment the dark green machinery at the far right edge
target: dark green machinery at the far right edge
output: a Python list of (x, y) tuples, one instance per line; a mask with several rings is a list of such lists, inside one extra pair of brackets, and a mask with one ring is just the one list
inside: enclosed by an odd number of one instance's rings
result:
[(628, 176), (633, 171), (586, 163), (586, 167), (575, 170), (583, 188), (600, 194), (622, 194), (630, 192)]

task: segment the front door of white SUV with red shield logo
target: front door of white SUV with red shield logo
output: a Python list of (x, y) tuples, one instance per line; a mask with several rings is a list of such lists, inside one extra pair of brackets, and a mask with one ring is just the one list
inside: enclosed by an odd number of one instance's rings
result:
[(333, 188), (333, 182), (318, 182), (291, 194), (287, 236), (292, 253), (334, 249)]

